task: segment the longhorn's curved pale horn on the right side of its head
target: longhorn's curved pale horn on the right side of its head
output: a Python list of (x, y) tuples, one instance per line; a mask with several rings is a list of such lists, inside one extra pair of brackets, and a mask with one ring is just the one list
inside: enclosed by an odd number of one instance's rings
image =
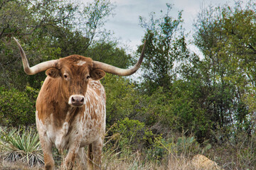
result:
[(108, 73), (111, 73), (111, 74), (116, 74), (116, 75), (119, 75), (119, 76), (129, 76), (131, 74), (134, 74), (134, 72), (137, 72), (140, 65), (142, 64), (145, 47), (146, 47), (146, 41), (144, 42), (144, 45), (143, 45), (143, 48), (142, 48), (142, 54), (139, 57), (138, 62), (134, 65), (134, 67), (132, 67), (130, 69), (120, 69), (120, 68), (114, 67), (110, 64), (105, 64), (103, 62), (96, 62), (96, 61), (93, 61), (93, 68), (94, 69), (102, 69), (105, 72), (108, 72)]

